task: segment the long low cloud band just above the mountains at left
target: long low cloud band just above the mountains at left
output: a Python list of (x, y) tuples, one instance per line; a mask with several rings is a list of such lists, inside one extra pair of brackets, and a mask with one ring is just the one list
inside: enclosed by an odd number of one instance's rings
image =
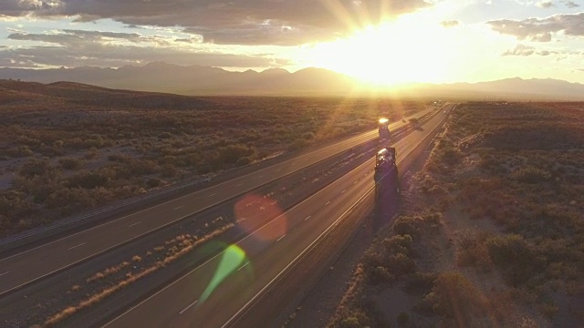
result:
[(291, 65), (273, 54), (238, 55), (207, 50), (196, 43), (162, 36), (66, 29), (58, 33), (13, 33), (12, 40), (50, 45), (0, 48), (0, 67), (121, 67), (166, 61), (177, 65), (213, 67), (282, 67)]

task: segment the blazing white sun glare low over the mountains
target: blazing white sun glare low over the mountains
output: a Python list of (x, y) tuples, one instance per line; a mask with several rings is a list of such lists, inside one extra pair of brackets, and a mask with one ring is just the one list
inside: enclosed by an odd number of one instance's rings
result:
[(352, 36), (310, 48), (312, 65), (362, 82), (393, 85), (437, 82), (448, 73), (450, 55), (442, 26), (399, 20), (367, 27)]

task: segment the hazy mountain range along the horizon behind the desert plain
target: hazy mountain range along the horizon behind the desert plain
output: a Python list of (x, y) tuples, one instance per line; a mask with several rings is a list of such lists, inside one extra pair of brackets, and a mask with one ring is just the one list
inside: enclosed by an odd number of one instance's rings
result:
[(584, 85), (557, 79), (520, 77), (479, 83), (411, 84), (362, 87), (349, 76), (308, 67), (290, 73), (282, 68), (231, 72), (218, 67), (152, 62), (142, 67), (0, 68), (0, 79), (40, 83), (70, 81), (99, 87), (167, 92), (188, 96), (359, 96), (370, 90), (403, 97), (488, 98), (509, 100), (584, 100)]

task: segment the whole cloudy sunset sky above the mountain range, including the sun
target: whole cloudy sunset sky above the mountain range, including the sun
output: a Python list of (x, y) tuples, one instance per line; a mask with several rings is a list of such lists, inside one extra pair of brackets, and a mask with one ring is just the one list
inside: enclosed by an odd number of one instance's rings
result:
[(0, 67), (323, 67), (584, 83), (584, 0), (2, 0)]

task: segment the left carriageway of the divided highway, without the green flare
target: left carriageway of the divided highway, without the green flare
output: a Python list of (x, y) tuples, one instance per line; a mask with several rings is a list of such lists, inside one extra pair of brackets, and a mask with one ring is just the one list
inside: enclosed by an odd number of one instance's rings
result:
[[(413, 117), (421, 118), (435, 109), (427, 108)], [(400, 128), (404, 124), (396, 122), (390, 128)], [(5, 257), (0, 260), (0, 296), (377, 137), (377, 130), (366, 132), (295, 159)]]

